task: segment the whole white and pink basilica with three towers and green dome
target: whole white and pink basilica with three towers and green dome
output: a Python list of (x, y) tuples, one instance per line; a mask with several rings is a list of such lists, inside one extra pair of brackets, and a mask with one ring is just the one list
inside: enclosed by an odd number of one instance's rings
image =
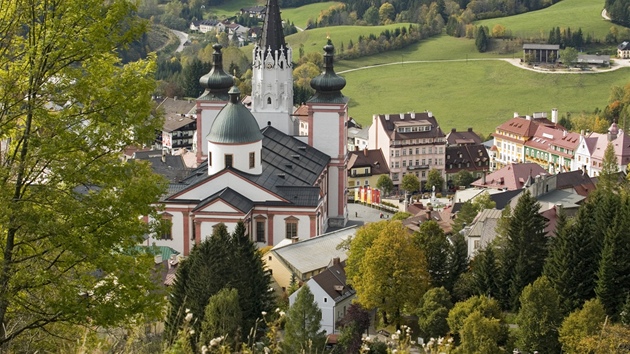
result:
[(346, 81), (333, 69), (333, 46), (324, 47), (324, 71), (311, 81), (308, 134), (299, 136), (292, 50), (277, 0), (267, 1), (253, 50), (251, 108), (223, 70), (221, 46), (214, 49), (212, 70), (200, 78), (205, 92), (196, 101), (199, 166), (169, 185), (162, 218), (170, 220), (170, 232), (147, 244), (188, 255), (217, 225), (231, 232), (241, 220), (259, 247), (345, 226), (348, 99), (341, 93)]

